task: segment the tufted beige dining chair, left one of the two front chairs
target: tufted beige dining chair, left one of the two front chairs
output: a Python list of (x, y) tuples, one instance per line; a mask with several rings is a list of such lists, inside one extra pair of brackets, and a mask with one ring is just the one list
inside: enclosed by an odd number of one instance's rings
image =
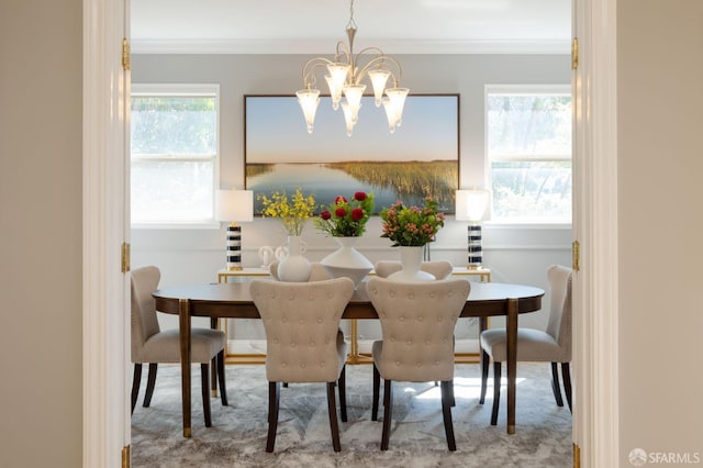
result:
[(347, 345), (339, 321), (354, 281), (336, 278), (310, 282), (254, 279), (252, 299), (266, 331), (266, 377), (269, 381), (266, 452), (274, 452), (281, 382), (326, 382), (330, 430), (339, 452), (339, 427), (334, 388), (338, 382), (342, 421), (347, 420), (345, 363)]

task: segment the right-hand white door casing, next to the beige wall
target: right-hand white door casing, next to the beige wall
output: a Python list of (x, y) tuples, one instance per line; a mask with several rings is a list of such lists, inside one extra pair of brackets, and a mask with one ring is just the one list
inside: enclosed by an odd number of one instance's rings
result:
[(620, 465), (617, 342), (617, 57), (612, 0), (573, 0), (573, 442), (582, 467)]

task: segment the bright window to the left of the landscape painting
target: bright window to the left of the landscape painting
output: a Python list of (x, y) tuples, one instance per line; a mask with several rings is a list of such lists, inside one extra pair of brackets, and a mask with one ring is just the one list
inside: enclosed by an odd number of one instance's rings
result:
[(133, 85), (133, 225), (214, 222), (219, 101), (217, 85)]

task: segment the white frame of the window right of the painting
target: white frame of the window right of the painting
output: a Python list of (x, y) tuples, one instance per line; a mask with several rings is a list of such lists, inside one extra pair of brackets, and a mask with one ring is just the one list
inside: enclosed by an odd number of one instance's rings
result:
[[(569, 158), (563, 157), (502, 157), (493, 159), (489, 149), (489, 119), (488, 119), (488, 101), (489, 94), (535, 94), (535, 96), (565, 96), (573, 98), (571, 85), (568, 83), (521, 83), (521, 85), (484, 85), (483, 86), (483, 147), (484, 147), (484, 167), (486, 167), (486, 187), (492, 191), (493, 189), (493, 161), (570, 161), (573, 171), (573, 133), (571, 136), (571, 154)], [(573, 129), (573, 99), (571, 99), (571, 127)], [(492, 197), (492, 196), (491, 196)], [(492, 200), (491, 200), (492, 203)], [(487, 220), (483, 222), (495, 227), (544, 227), (544, 229), (571, 229), (573, 223), (573, 186), (571, 188), (571, 221), (539, 221), (539, 220)]]

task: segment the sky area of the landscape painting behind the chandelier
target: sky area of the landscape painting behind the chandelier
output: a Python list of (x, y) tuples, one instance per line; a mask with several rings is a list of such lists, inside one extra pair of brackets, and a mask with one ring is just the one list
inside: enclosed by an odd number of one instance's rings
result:
[(390, 134), (383, 107), (365, 97), (349, 137), (342, 108), (324, 97), (309, 134), (295, 97), (246, 97), (246, 161), (457, 160), (457, 96), (410, 96)]

